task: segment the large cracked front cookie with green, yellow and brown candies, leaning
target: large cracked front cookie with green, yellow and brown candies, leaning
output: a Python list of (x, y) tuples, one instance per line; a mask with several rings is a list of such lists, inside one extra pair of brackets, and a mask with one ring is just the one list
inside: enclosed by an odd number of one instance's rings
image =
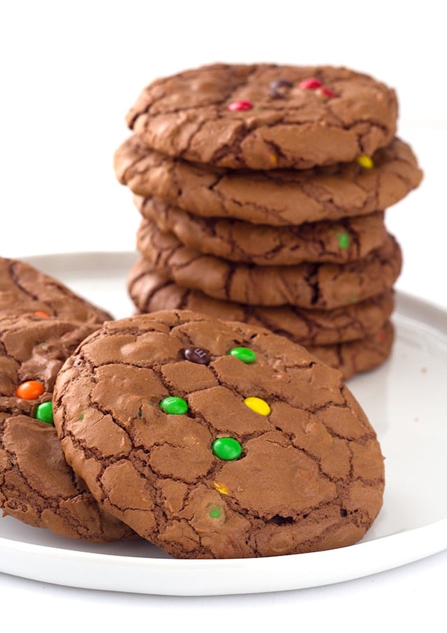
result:
[(342, 547), (381, 508), (379, 442), (342, 375), (264, 328), (109, 321), (59, 373), (54, 421), (96, 499), (179, 558)]

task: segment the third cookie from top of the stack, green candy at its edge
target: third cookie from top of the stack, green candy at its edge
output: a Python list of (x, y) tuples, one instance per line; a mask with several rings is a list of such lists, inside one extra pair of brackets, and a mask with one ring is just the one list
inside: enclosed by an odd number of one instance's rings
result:
[(242, 220), (204, 218), (156, 198), (136, 198), (143, 217), (184, 246), (229, 261), (256, 265), (356, 261), (386, 241), (383, 212), (299, 226), (249, 224)]

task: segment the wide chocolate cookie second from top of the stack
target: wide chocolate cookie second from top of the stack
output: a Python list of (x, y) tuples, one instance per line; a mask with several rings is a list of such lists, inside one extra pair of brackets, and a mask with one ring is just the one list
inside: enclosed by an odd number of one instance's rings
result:
[(143, 197), (155, 196), (203, 217), (288, 226), (385, 210), (422, 178), (411, 147), (398, 138), (372, 157), (312, 170), (217, 169), (167, 157), (138, 136), (115, 152), (119, 182)]

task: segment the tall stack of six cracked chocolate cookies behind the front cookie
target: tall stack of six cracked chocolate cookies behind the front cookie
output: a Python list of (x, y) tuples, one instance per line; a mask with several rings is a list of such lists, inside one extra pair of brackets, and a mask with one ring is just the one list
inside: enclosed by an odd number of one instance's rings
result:
[(142, 216), (139, 312), (262, 325), (345, 378), (388, 358), (402, 253), (385, 212), (422, 177), (393, 89), (346, 68), (214, 64), (152, 82), (127, 122), (115, 172)]

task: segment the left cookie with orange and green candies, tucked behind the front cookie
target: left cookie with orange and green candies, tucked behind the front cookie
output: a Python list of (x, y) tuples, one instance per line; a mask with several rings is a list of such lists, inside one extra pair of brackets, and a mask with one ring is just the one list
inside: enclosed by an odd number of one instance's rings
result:
[[(22, 523), (104, 542), (135, 534), (98, 506), (66, 464), (51, 417), (39, 413), (52, 400), (61, 365), (98, 328), (54, 316), (1, 316), (0, 507)], [(29, 381), (36, 393), (26, 389)]]

